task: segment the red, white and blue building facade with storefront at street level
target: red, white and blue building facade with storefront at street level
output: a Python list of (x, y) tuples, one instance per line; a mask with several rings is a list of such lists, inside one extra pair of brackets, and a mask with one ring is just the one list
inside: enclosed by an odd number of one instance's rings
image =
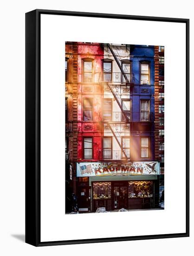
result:
[(158, 50), (66, 42), (66, 213), (159, 207)]

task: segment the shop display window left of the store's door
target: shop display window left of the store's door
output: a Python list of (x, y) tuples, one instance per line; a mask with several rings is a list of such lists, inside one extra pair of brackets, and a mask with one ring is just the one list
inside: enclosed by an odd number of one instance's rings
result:
[(93, 199), (111, 198), (111, 182), (93, 182)]

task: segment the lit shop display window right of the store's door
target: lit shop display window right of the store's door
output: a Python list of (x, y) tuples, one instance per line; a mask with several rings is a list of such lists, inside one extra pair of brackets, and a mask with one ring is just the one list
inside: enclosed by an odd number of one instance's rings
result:
[(129, 198), (153, 197), (153, 182), (129, 182)]

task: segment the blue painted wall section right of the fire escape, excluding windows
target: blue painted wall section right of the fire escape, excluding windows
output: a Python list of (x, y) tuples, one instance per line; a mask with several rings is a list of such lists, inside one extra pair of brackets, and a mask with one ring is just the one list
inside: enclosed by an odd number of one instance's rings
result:
[[(136, 113), (140, 113), (140, 101), (141, 100), (149, 100), (150, 101), (150, 117), (151, 124), (149, 124), (149, 130), (138, 132), (136, 129), (133, 129), (133, 125), (131, 127), (131, 149), (134, 150), (132, 153), (135, 157), (134, 161), (143, 161), (141, 158), (141, 137), (149, 137), (150, 141), (150, 154), (149, 159), (154, 160), (155, 158), (155, 137), (154, 137), (154, 114), (155, 114), (155, 100), (154, 100), (154, 82), (155, 82), (155, 64), (154, 64), (154, 46), (139, 46), (133, 45), (130, 47), (130, 57), (131, 60), (131, 73), (132, 73), (132, 81), (134, 83), (133, 89), (130, 90), (130, 98), (132, 99), (132, 118), (133, 121), (140, 121), (140, 115)], [(150, 84), (149, 85), (141, 85), (140, 80), (140, 63), (141, 61), (149, 61), (150, 63)], [(146, 124), (145, 124), (146, 125)]]

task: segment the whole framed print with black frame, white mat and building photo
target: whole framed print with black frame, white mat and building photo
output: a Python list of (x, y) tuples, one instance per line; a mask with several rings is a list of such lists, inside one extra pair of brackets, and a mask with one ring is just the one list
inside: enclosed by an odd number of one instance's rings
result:
[(26, 243), (189, 236), (189, 20), (26, 13)]

